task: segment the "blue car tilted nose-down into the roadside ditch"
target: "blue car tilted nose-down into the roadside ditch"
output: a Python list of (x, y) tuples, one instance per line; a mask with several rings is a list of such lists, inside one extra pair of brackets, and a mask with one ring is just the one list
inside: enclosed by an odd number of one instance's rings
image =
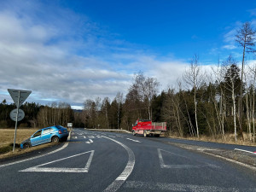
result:
[(49, 126), (38, 130), (32, 137), (20, 143), (20, 148), (30, 148), (32, 146), (43, 143), (59, 143), (59, 141), (67, 141), (68, 131), (61, 125)]

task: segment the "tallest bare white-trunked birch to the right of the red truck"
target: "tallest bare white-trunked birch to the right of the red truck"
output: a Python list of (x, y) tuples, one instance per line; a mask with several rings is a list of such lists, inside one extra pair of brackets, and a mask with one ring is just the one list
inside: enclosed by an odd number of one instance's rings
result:
[(203, 75), (201, 73), (201, 67), (198, 65), (199, 56), (194, 55), (190, 61), (190, 67), (183, 74), (184, 81), (189, 84), (194, 90), (194, 105), (195, 105), (195, 126), (196, 126), (196, 136), (199, 137), (199, 129), (197, 122), (197, 101), (196, 101), (196, 90), (201, 86), (203, 82)]

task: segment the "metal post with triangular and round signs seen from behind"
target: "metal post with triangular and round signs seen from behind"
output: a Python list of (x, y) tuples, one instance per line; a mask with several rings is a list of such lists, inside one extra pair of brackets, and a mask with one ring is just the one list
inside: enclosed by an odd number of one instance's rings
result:
[[(14, 141), (14, 148), (13, 148), (13, 152), (14, 152), (15, 151), (15, 142), (16, 142), (18, 121), (24, 118), (24, 112), (20, 109), (20, 106), (23, 104), (23, 102), (25, 102), (26, 98), (31, 94), (32, 91), (31, 90), (11, 90), (11, 89), (8, 89), (8, 91), (9, 91), (9, 95), (12, 97), (12, 99), (14, 100), (14, 102), (16, 104), (16, 107), (17, 107), (15, 110), (13, 110), (10, 113), (10, 117), (12, 119), (13, 114), (16, 111), (16, 117), (15, 117), (15, 141)], [(22, 114), (19, 116), (19, 113), (20, 114), (22, 113)]]

